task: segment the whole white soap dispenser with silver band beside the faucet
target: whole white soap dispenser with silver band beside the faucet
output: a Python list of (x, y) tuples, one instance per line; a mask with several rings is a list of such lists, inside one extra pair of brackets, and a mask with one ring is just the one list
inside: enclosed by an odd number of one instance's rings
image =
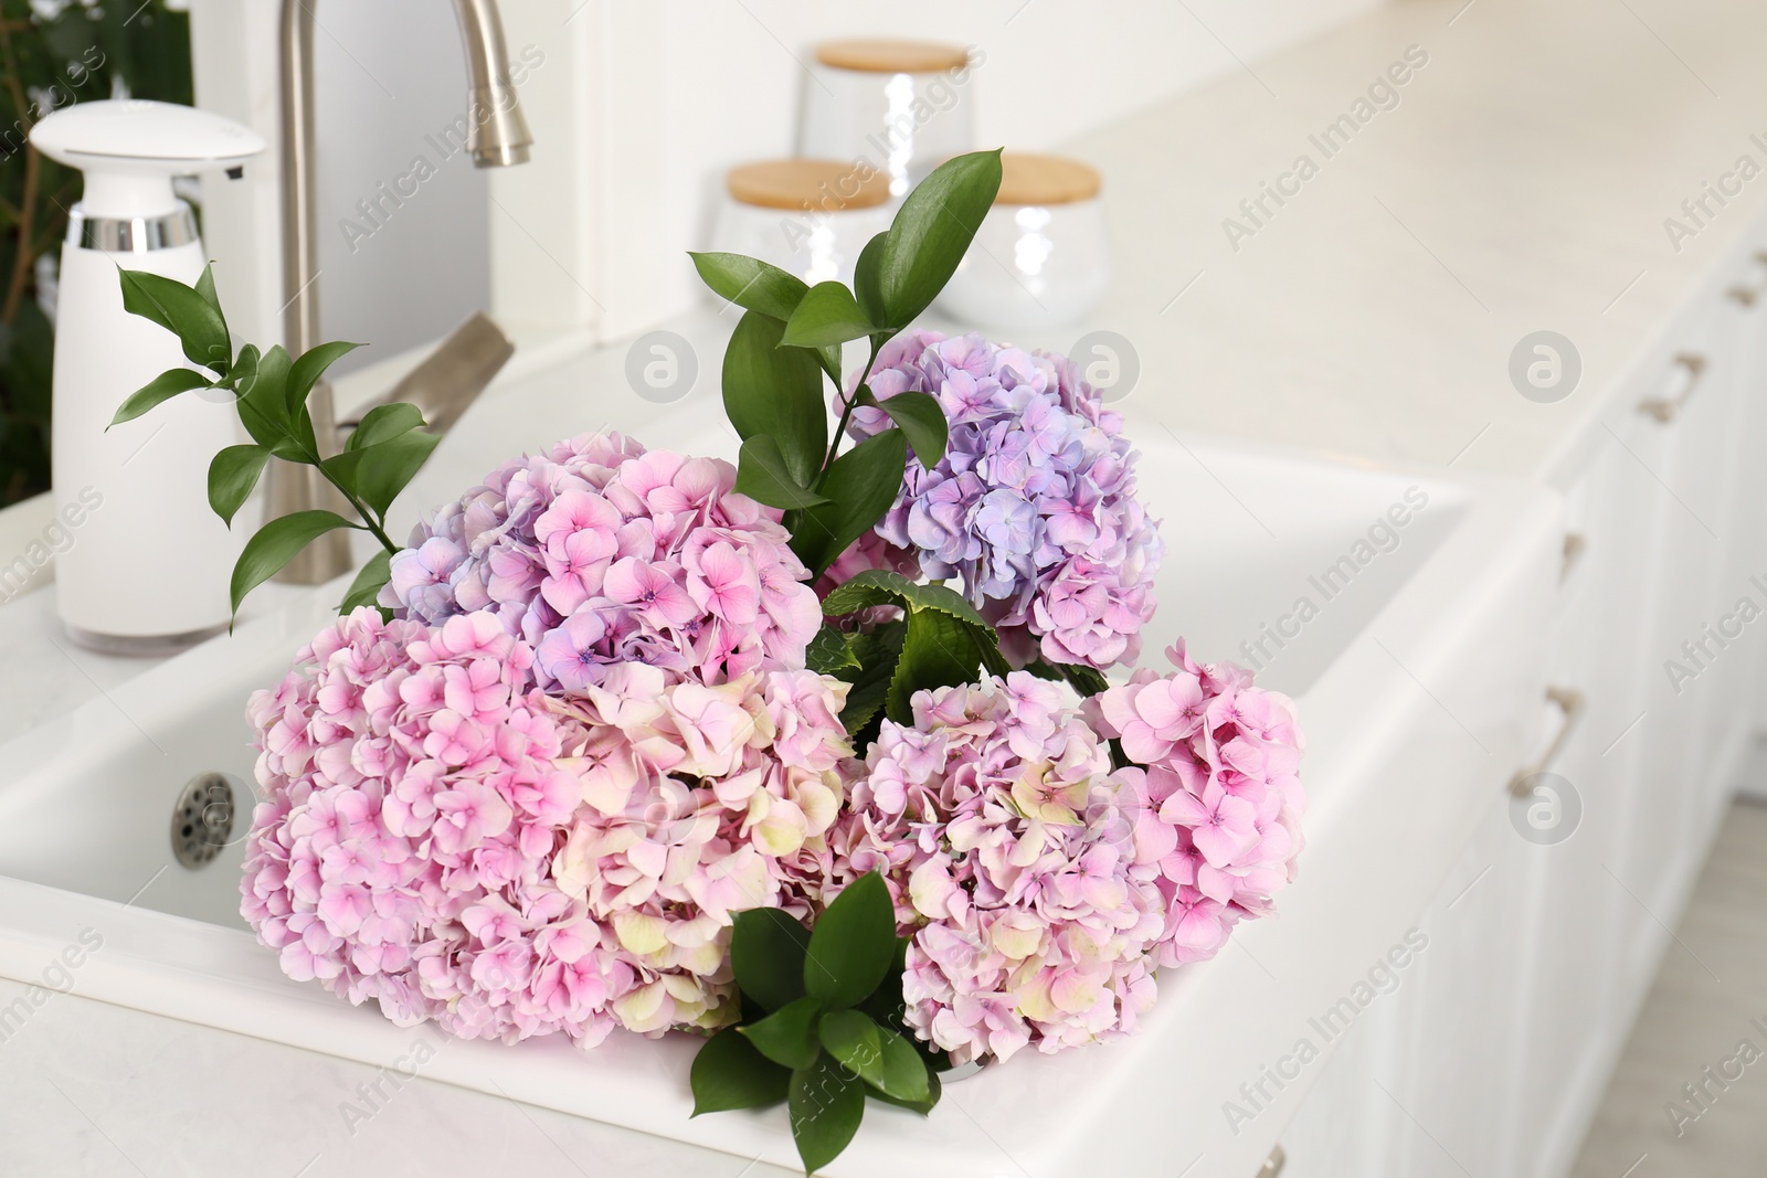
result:
[(194, 367), (171, 332), (124, 311), (117, 270), (194, 284), (203, 244), (171, 178), (237, 177), (263, 138), (209, 111), (131, 99), (55, 111), (30, 141), (85, 173), (55, 316), (53, 495), (72, 533), (55, 558), (57, 611), (81, 646), (170, 653), (228, 625), (240, 540), (209, 509), (209, 461), (240, 438), (231, 394), (200, 390), (106, 429), (131, 392)]

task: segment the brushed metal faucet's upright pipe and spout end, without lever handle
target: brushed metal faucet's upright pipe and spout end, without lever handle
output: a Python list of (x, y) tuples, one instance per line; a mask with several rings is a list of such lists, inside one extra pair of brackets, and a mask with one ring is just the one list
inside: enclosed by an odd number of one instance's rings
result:
[[(283, 343), (300, 355), (320, 341), (320, 245), (318, 178), (313, 150), (313, 9), (318, 0), (283, 0), (281, 11), (281, 97), (283, 97)], [(521, 101), (509, 79), (504, 21), (497, 0), (454, 0), (461, 44), (466, 53), (468, 108), (466, 150), (479, 168), (525, 164), (534, 138), (521, 117)], [(495, 371), (495, 369), (493, 369)], [(482, 385), (481, 385), (482, 387)], [(477, 389), (465, 394), (470, 399)], [(330, 387), (320, 381), (307, 399), (322, 452), (336, 449), (336, 412)], [(265, 479), (265, 517), (327, 507), (348, 512), (341, 496), (306, 466), (272, 459)], [(320, 585), (348, 572), (350, 547), (345, 532), (330, 532), (292, 560), (279, 581)]]

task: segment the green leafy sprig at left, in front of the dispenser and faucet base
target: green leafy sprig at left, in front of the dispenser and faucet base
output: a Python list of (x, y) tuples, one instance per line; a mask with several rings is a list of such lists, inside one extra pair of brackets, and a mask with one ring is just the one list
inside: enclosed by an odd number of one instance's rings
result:
[(339, 609), (375, 604), (380, 586), (387, 583), (392, 555), (399, 551), (387, 535), (387, 509), (440, 442), (424, 431), (422, 412), (403, 403), (375, 406), (362, 415), (343, 450), (327, 456), (330, 447), (322, 447), (313, 431), (307, 397), (325, 369), (360, 344), (318, 344), (299, 357), (290, 357), (281, 344), (269, 351), (246, 344), (235, 353), (210, 267), (203, 267), (196, 286), (145, 270), (118, 274), (124, 309), (177, 336), (186, 359), (196, 367), (173, 367), (155, 376), (122, 403), (111, 426), (141, 417), (182, 392), (230, 392), (251, 442), (230, 445), (209, 463), (209, 505), (228, 526), (233, 526), (233, 516), (272, 457), (313, 466), (355, 510), (355, 519), (323, 509), (299, 510), (258, 528), (233, 565), (233, 613), (251, 590), (276, 576), (300, 549), (337, 528), (368, 532), (382, 547), (357, 574)]

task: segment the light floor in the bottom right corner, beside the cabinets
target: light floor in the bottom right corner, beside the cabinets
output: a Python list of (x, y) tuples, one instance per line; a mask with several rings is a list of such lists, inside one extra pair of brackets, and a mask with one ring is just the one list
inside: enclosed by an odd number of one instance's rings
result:
[(1767, 807), (1732, 807), (1675, 936), (1573, 1178), (1767, 1174)]

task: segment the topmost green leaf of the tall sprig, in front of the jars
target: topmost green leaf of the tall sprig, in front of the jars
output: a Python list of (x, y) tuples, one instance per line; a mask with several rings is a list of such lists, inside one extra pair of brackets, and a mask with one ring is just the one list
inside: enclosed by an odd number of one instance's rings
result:
[(908, 193), (868, 274), (884, 311), (880, 327), (906, 327), (926, 311), (963, 261), (998, 193), (998, 150), (947, 159)]

